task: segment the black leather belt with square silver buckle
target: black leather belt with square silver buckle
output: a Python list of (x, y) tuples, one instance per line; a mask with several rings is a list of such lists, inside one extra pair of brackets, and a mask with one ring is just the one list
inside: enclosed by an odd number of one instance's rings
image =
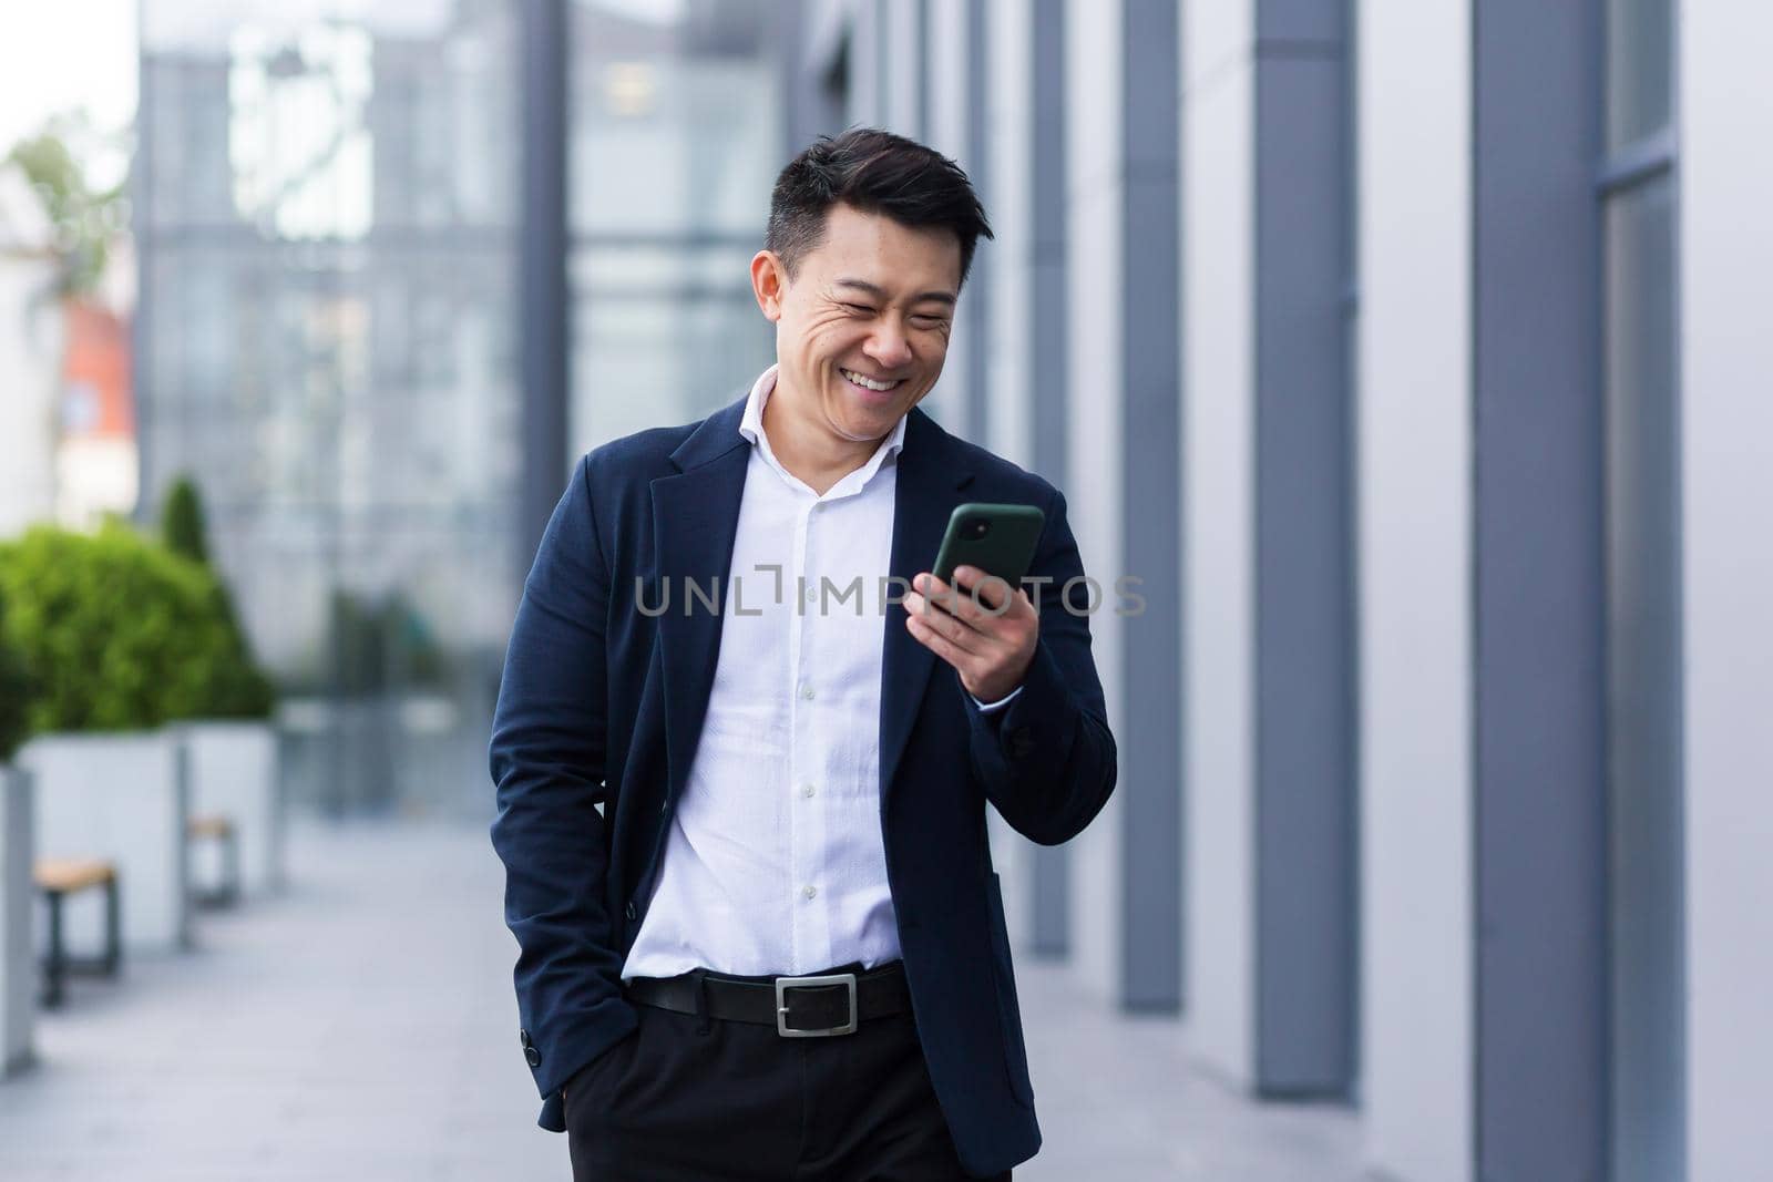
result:
[[(629, 1001), (677, 1014), (707, 1014), (732, 1023), (775, 1026), (784, 1038), (855, 1033), (865, 1023), (911, 1008), (904, 960), (867, 973), (817, 976), (727, 976), (697, 969), (681, 976), (637, 976)], [(706, 1007), (699, 1005), (706, 998)]]

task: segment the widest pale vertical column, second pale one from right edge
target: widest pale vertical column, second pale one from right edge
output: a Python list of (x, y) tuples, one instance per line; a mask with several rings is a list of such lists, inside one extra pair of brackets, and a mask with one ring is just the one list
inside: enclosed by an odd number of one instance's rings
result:
[(1472, 5), (1356, 28), (1362, 1099), (1374, 1164), (1466, 1182)]

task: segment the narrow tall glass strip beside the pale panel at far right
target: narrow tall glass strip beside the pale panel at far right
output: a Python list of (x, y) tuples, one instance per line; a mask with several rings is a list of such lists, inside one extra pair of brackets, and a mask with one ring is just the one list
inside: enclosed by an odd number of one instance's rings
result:
[(1612, 0), (1603, 191), (1613, 1182), (1686, 1171), (1681, 413), (1668, 0)]

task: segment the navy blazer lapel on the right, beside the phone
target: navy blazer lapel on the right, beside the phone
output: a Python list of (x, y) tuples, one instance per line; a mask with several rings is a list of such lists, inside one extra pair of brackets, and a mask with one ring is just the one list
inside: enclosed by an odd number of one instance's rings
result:
[[(973, 473), (963, 468), (959, 448), (949, 447), (949, 434), (924, 411), (911, 408), (899, 452), (899, 478), (894, 491), (892, 574), (901, 595), (911, 576), (936, 562), (949, 516), (963, 503), (961, 489)], [(892, 790), (899, 758), (911, 737), (917, 709), (924, 702), (936, 654), (918, 643), (906, 626), (902, 606), (886, 610), (886, 638), (881, 649), (881, 808)]]

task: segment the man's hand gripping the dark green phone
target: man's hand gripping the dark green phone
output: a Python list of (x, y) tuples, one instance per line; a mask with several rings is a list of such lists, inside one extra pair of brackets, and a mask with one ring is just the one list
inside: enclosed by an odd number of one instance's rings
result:
[(954, 666), (961, 686), (980, 702), (1007, 698), (1021, 684), (1041, 638), (1041, 617), (1028, 592), (979, 567), (956, 567), (954, 585), (929, 571), (911, 579), (906, 627), (918, 643)]

